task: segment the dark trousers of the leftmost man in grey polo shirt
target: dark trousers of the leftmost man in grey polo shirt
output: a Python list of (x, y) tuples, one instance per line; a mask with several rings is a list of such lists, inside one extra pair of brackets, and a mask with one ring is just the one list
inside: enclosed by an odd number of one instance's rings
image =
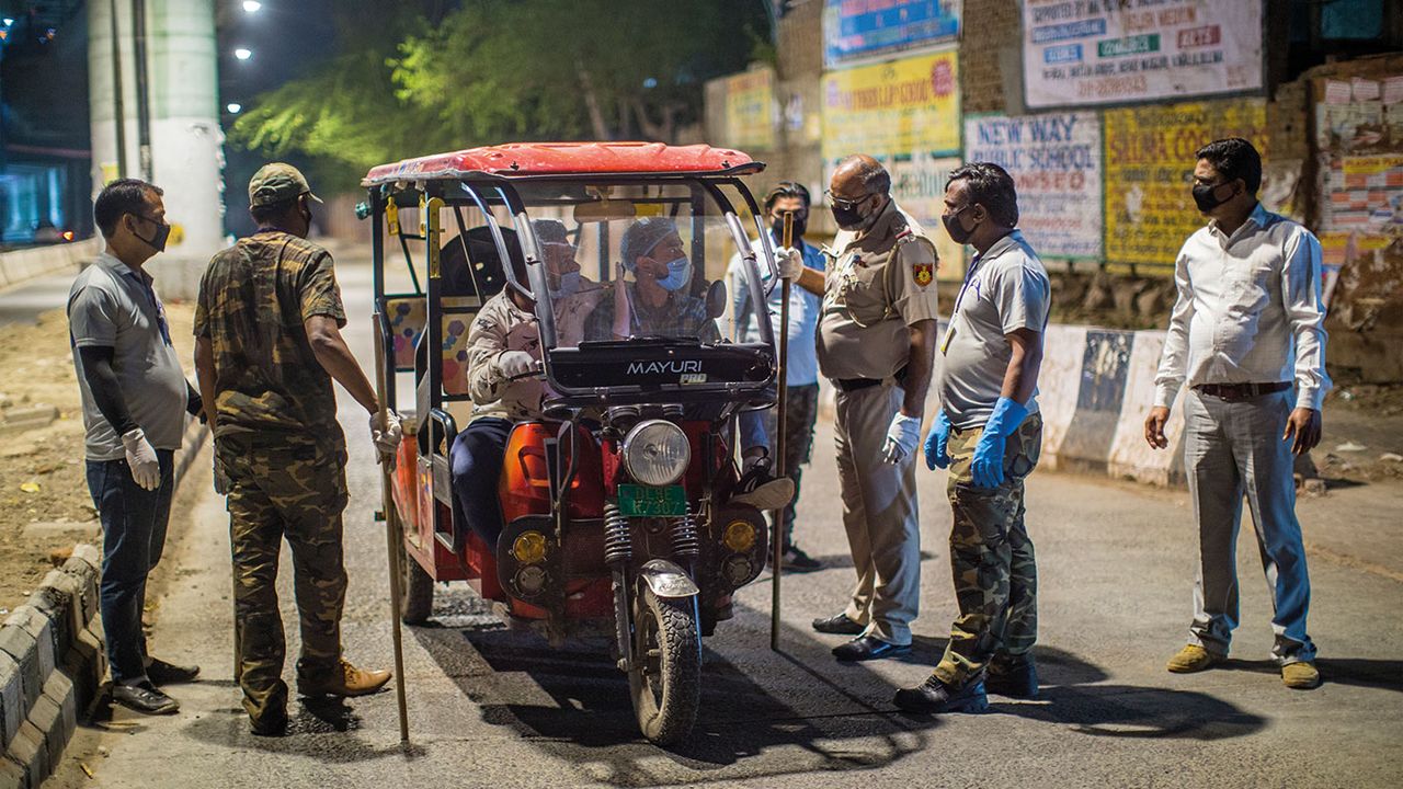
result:
[(107, 663), (114, 682), (146, 678), (146, 576), (161, 559), (175, 487), (175, 452), (157, 449), (161, 484), (143, 490), (126, 460), (88, 460), (88, 491), (102, 521), (100, 605), (107, 635)]

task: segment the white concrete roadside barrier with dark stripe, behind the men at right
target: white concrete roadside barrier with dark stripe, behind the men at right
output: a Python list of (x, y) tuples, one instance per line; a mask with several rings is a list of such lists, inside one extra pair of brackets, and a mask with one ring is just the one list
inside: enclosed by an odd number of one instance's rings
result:
[[(941, 321), (940, 331), (946, 326)], [(1184, 483), (1183, 393), (1170, 411), (1170, 445), (1150, 449), (1145, 417), (1155, 403), (1163, 331), (1048, 326), (1038, 375), (1042, 460), (1048, 469), (1107, 475), (1157, 486)], [(934, 380), (940, 379), (936, 354)], [(940, 407), (932, 383), (926, 428)], [(819, 418), (833, 418), (833, 387), (821, 382)]]

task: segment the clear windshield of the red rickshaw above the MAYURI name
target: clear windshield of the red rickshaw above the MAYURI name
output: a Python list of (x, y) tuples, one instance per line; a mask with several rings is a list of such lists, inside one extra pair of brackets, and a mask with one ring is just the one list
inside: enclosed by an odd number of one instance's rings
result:
[(539, 243), (546, 292), (535, 295), (554, 316), (554, 337), (542, 337), (553, 348), (725, 343), (739, 289), (767, 277), (767, 256), (756, 254), (734, 213), (748, 205), (724, 183), (513, 185)]

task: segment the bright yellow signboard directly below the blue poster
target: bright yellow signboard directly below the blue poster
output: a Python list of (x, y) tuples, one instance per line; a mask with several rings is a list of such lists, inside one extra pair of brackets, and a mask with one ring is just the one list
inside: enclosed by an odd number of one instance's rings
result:
[(954, 51), (824, 74), (824, 159), (960, 156)]

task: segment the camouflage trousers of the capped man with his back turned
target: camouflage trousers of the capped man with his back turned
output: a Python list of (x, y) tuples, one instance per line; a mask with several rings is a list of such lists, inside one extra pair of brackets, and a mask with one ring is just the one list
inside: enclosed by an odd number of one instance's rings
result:
[(297, 678), (321, 678), (341, 660), (341, 511), (347, 504), (344, 441), (233, 435), (216, 442), (216, 483), (227, 493), (234, 564), (236, 675), (251, 717), (288, 705), (278, 612), (278, 553), (292, 549), (302, 625)]

